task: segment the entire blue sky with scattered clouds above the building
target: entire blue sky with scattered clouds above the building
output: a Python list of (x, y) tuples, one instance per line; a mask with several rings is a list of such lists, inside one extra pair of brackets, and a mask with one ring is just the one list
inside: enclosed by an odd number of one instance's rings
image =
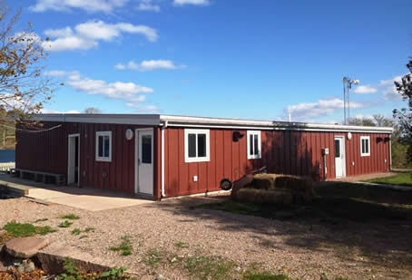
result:
[(33, 0), (32, 22), (64, 82), (45, 112), (342, 120), (342, 77), (358, 79), (352, 115), (391, 116), (393, 79), (412, 55), (410, 0)]

